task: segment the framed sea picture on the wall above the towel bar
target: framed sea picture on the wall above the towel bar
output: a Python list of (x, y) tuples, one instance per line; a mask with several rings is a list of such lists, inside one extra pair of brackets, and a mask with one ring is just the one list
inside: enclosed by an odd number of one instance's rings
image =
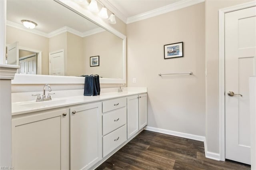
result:
[(164, 59), (183, 57), (183, 42), (164, 45)]

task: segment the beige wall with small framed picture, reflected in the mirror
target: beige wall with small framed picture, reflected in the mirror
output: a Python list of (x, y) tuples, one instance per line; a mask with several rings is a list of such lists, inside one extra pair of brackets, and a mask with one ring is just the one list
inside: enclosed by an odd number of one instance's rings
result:
[[(123, 78), (123, 40), (109, 32), (84, 37), (84, 73), (103, 78)], [(100, 66), (90, 67), (90, 57), (100, 56)]]

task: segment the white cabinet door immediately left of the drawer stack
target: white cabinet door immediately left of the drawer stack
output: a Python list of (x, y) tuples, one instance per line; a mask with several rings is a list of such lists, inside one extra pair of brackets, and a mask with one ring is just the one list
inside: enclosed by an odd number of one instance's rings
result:
[(70, 169), (89, 169), (102, 158), (102, 105), (70, 108)]

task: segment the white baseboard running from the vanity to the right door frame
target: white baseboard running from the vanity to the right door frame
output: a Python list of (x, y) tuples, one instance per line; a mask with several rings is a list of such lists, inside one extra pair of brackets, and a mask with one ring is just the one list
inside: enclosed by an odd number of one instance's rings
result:
[(220, 154), (207, 151), (207, 144), (206, 144), (205, 136), (199, 136), (199, 135), (183, 133), (183, 132), (176, 132), (176, 131), (172, 131), (172, 130), (166, 130), (166, 129), (162, 129), (162, 128), (155, 128), (155, 127), (148, 127), (148, 126), (146, 126), (144, 129), (153, 131), (153, 132), (169, 134), (172, 136), (178, 136), (178, 137), (182, 137), (182, 138), (188, 138), (188, 139), (192, 139), (192, 140), (202, 141), (202, 142), (204, 142), (205, 157), (214, 159), (214, 160), (220, 160)]

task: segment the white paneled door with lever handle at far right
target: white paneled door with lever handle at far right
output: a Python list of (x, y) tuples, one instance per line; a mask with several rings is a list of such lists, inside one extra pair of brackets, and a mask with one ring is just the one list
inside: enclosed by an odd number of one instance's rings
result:
[(256, 7), (226, 13), (226, 159), (246, 164), (250, 164), (249, 76), (255, 75), (255, 57)]

